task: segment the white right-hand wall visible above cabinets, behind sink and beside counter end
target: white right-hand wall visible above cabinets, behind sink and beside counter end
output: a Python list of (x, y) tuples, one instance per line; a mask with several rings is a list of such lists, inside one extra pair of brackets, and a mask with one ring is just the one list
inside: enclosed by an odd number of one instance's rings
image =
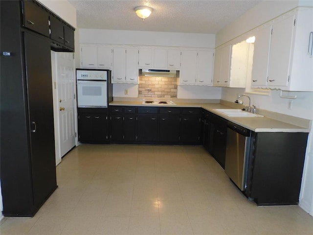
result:
[[(293, 9), (297, 5), (312, 5), (313, 1), (262, 1), (260, 4), (246, 12), (232, 24), (227, 25), (216, 35), (216, 45), (230, 41), (238, 37), (250, 29), (263, 24), (282, 13)], [(222, 89), (222, 99), (235, 101), (238, 94), (245, 93), (245, 89)], [(286, 94), (286, 92), (284, 92)], [(299, 118), (313, 120), (313, 92), (290, 92), (287, 95), (297, 95), (295, 100), (280, 98), (280, 91), (270, 91), (268, 96), (249, 94), (251, 103), (257, 108), (269, 111), (291, 115)], [(243, 99), (244, 100), (244, 99)], [(247, 101), (244, 100), (246, 103)], [(288, 108), (289, 102), (292, 102), (291, 109)], [(308, 148), (306, 152), (306, 162), (303, 172), (303, 182), (300, 193), (299, 206), (305, 211), (313, 215), (313, 139), (308, 140)], [(311, 170), (309, 170), (311, 169)]]

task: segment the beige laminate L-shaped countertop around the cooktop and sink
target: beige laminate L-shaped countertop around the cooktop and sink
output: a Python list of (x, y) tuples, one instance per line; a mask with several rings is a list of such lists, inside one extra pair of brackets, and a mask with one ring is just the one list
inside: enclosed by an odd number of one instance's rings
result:
[(254, 132), (306, 132), (306, 133), (310, 132), (309, 127), (305, 128), (297, 125), (292, 125), (290, 123), (268, 117), (228, 117), (214, 110), (214, 109), (233, 109), (233, 107), (229, 107), (221, 103), (184, 103), (184, 102), (175, 102), (175, 103), (176, 105), (151, 105), (151, 104), (142, 104), (142, 101), (112, 101), (110, 102), (109, 105), (164, 107), (164, 108), (199, 107)]

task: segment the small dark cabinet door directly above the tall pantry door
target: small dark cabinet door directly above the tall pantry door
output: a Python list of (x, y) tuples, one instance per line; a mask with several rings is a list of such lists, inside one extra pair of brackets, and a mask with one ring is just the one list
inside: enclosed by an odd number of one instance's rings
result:
[(31, 0), (22, 1), (23, 26), (49, 37), (49, 15), (44, 8)]

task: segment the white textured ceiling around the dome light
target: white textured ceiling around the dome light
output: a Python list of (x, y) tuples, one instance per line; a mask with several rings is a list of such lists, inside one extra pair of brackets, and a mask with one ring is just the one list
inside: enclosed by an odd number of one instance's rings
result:
[[(215, 34), (260, 0), (69, 0), (77, 9), (77, 27), (113, 30)], [(148, 5), (144, 22), (134, 12)]]

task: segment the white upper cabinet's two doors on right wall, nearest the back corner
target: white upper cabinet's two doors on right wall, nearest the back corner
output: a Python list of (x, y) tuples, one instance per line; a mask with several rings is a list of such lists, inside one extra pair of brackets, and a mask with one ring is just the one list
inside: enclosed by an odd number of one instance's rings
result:
[(214, 64), (214, 86), (228, 86), (229, 79), (229, 65), (230, 65), (230, 48), (228, 44), (216, 50), (215, 64)]

